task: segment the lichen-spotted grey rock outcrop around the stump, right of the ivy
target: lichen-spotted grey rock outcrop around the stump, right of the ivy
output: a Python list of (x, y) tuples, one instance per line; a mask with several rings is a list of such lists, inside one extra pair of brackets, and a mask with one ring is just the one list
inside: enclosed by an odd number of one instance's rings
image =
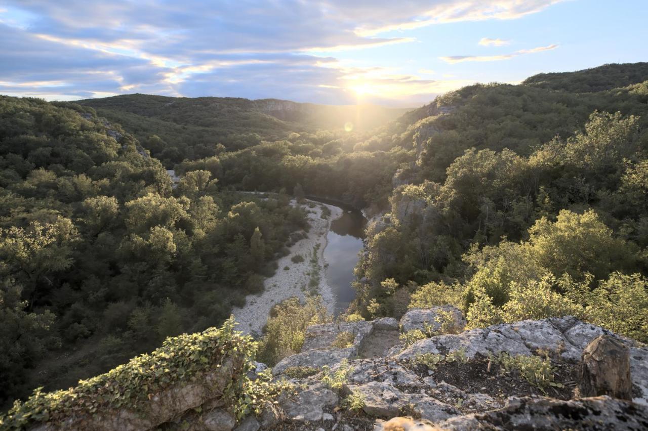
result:
[[(400, 322), (308, 328), (301, 353), (273, 368), (305, 388), (280, 400), (274, 429), (373, 429), (376, 418), (402, 415), (450, 430), (648, 426), (648, 349), (636, 342), (571, 316), (470, 331), (464, 325), (461, 312), (446, 306), (412, 310)], [(399, 337), (448, 330), (409, 346)], [(353, 335), (351, 344), (332, 347), (343, 333)], [(629, 350), (633, 402), (573, 399), (583, 349), (600, 335)], [(337, 389), (324, 367), (338, 375)], [(308, 373), (314, 375), (298, 377)]]

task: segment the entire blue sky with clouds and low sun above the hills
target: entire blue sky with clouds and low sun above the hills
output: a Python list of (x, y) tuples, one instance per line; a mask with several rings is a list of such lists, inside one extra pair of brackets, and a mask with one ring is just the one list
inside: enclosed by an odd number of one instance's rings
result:
[(647, 0), (0, 0), (0, 94), (413, 107), (648, 61)]

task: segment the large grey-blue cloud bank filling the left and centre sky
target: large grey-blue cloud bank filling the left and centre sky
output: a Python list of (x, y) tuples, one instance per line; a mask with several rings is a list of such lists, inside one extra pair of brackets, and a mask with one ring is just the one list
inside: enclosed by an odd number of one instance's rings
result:
[(0, 93), (72, 98), (139, 92), (347, 103), (356, 96), (349, 91), (356, 79), (365, 80), (367, 89), (384, 90), (387, 98), (396, 91), (431, 94), (459, 82), (400, 76), (380, 67), (356, 69), (333, 53), (416, 40), (383, 34), (391, 30), (515, 19), (559, 1), (5, 0)]

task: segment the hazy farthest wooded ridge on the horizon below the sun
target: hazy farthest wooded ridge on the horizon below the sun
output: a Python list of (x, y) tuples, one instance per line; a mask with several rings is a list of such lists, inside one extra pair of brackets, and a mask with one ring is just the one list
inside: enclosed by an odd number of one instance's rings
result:
[(333, 106), (277, 99), (150, 94), (124, 94), (75, 103), (93, 107), (98, 115), (121, 124), (153, 155), (166, 160), (169, 167), (185, 157), (214, 155), (216, 144), (232, 151), (262, 140), (281, 140), (294, 132), (343, 131), (347, 123), (357, 131), (367, 131), (407, 111), (375, 105)]

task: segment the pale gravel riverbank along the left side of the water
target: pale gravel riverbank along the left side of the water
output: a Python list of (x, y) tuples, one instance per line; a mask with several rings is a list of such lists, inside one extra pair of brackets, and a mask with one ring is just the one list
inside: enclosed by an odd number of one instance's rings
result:
[[(237, 329), (244, 333), (260, 334), (274, 305), (292, 296), (303, 300), (309, 292), (319, 294), (329, 313), (334, 313), (336, 296), (325, 276), (324, 250), (327, 247), (330, 223), (342, 216), (342, 210), (337, 206), (308, 199), (303, 204), (297, 204), (294, 200), (290, 203), (300, 205), (307, 212), (310, 231), (307, 238), (299, 239), (290, 247), (290, 254), (279, 258), (277, 272), (266, 278), (264, 291), (246, 296), (246, 305), (232, 310), (238, 322)], [(314, 204), (313, 208), (309, 204)], [(326, 218), (321, 217), (323, 207), (330, 211)], [(295, 256), (301, 256), (303, 261), (294, 261), (299, 260)]]

